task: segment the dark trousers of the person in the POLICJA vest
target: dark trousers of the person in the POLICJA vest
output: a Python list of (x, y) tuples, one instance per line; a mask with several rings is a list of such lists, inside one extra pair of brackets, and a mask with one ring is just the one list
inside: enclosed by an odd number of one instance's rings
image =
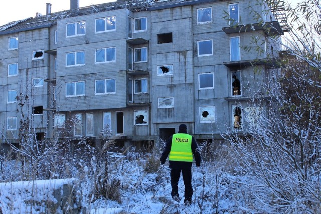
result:
[(185, 186), (185, 191), (184, 191), (184, 201), (190, 201), (192, 199), (193, 195), (193, 188), (192, 188), (192, 171), (191, 168), (188, 169), (171, 169), (171, 186), (172, 186), (172, 192), (171, 195), (172, 197), (178, 197), (179, 193), (179, 187), (178, 187), (178, 182), (180, 179), (180, 175), (183, 175), (183, 181), (184, 181), (184, 186)]

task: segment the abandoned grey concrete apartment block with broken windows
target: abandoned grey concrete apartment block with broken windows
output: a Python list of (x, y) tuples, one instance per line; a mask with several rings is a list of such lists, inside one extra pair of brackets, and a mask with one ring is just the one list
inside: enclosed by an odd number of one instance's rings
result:
[[(244, 130), (247, 89), (275, 68), (270, 37), (286, 31), (282, 4), (267, 13), (254, 0), (46, 6), (0, 27), (2, 145), (18, 142), (26, 118), (37, 140), (69, 125), (73, 140), (95, 142), (110, 127), (123, 145), (167, 140), (181, 123), (198, 141)], [(256, 35), (265, 51), (243, 50)]]

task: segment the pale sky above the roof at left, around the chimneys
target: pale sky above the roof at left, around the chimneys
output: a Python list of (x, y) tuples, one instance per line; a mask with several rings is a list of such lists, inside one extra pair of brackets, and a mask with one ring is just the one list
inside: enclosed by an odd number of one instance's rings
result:
[[(79, 7), (114, 1), (116, 0), (79, 0)], [(35, 17), (37, 12), (45, 15), (46, 3), (51, 3), (52, 13), (70, 9), (70, 0), (1, 0), (0, 26), (12, 21)]]

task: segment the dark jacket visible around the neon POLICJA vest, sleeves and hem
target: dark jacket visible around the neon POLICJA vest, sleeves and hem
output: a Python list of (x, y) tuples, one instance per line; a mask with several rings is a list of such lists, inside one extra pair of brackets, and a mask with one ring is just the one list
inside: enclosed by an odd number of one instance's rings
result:
[[(179, 131), (178, 133), (186, 133), (186, 131)], [(170, 151), (171, 151), (171, 147), (172, 147), (172, 137), (173, 135), (168, 139), (166, 145), (165, 145), (165, 149), (162, 153), (161, 156), (161, 164), (164, 164), (166, 161), (166, 158), (169, 156)], [(201, 165), (201, 155), (199, 150), (197, 149), (197, 142), (195, 141), (194, 137), (192, 137), (192, 144), (191, 144), (191, 148), (192, 148), (192, 152), (194, 154), (194, 159), (196, 162), (197, 166)], [(184, 161), (171, 161), (170, 160), (170, 168), (173, 169), (187, 169), (187, 168), (191, 168), (192, 167), (192, 162), (184, 162)]]

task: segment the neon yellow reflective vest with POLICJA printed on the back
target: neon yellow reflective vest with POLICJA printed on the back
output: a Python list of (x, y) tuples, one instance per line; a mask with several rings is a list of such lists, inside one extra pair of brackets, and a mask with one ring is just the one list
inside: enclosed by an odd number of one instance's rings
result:
[(178, 133), (172, 137), (172, 147), (169, 160), (193, 162), (192, 136), (189, 134)]

